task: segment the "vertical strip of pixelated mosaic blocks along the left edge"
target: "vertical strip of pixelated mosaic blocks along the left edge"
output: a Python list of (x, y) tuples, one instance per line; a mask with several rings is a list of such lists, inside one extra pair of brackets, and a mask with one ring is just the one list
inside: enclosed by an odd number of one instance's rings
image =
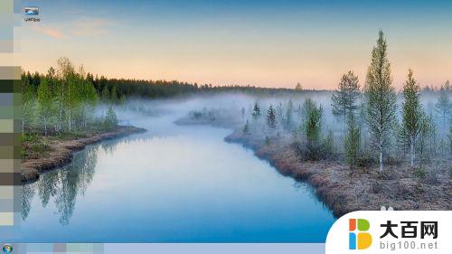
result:
[(13, 234), (21, 221), (21, 68), (13, 62), (21, 9), (18, 0), (0, 1), (0, 235)]

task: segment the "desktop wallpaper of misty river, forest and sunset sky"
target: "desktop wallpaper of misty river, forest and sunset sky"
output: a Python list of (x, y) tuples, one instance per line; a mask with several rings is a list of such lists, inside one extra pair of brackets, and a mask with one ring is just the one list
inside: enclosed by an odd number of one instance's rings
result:
[(325, 243), (347, 212), (450, 210), (451, 10), (22, 1), (2, 239)]

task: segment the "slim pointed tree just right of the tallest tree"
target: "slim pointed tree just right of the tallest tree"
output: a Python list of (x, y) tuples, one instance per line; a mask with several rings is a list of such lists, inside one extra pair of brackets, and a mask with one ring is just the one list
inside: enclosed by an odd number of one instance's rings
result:
[(414, 165), (415, 145), (420, 131), (422, 108), (419, 102), (419, 84), (413, 78), (413, 71), (409, 70), (408, 80), (403, 86), (402, 128), (410, 144), (410, 165)]

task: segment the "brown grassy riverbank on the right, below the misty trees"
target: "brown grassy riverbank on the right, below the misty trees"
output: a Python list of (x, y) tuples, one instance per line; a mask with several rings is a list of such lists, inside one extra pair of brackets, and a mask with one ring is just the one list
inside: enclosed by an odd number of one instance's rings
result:
[(351, 171), (335, 161), (306, 162), (297, 155), (290, 136), (263, 140), (261, 136), (234, 131), (227, 142), (249, 147), (254, 154), (297, 181), (306, 181), (325, 205), (340, 217), (358, 210), (451, 210), (451, 165), (447, 160), (425, 166), (424, 171), (407, 165), (377, 166)]

